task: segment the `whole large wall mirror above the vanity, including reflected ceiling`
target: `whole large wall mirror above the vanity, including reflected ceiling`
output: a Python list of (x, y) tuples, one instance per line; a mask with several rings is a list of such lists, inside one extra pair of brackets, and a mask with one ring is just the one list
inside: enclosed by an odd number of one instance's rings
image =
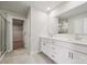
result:
[(70, 9), (59, 15), (58, 34), (87, 35), (87, 3)]

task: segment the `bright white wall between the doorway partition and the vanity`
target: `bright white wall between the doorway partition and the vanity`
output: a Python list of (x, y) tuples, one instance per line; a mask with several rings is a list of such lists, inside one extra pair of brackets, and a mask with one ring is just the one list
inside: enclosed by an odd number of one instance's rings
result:
[(47, 13), (31, 8), (31, 53), (39, 52), (41, 35), (47, 35)]

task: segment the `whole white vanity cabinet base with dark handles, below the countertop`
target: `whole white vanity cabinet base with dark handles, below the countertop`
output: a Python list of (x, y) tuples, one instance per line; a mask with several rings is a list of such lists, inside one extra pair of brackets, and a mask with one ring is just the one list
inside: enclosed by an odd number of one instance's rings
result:
[[(80, 47), (80, 48), (79, 48)], [(86, 46), (75, 45), (70, 42), (41, 39), (41, 52), (59, 64), (87, 63)]]

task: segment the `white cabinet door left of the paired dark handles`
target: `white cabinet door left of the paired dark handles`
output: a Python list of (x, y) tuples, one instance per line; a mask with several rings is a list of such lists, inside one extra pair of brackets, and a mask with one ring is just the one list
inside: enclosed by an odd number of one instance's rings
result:
[(67, 50), (65, 47), (61, 47), (58, 53), (59, 53), (58, 63), (61, 63), (61, 64), (72, 63), (70, 51), (69, 50)]

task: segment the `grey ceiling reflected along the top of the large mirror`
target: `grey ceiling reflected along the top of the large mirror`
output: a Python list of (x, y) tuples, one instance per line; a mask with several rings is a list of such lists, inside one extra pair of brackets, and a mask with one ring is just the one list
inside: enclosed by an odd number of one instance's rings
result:
[(75, 8), (75, 9), (70, 9), (69, 11), (67, 11), (66, 13), (62, 13), (59, 15), (59, 18), (70, 18), (70, 17), (75, 17), (75, 15), (80, 15), (80, 14), (86, 14), (87, 13), (87, 2)]

